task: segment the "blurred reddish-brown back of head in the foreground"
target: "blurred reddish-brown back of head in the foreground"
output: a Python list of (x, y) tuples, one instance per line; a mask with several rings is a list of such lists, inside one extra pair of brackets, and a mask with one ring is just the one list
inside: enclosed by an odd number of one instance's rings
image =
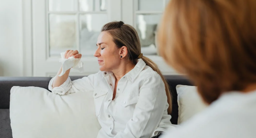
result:
[(255, 0), (171, 0), (160, 54), (187, 74), (207, 103), (256, 82)]

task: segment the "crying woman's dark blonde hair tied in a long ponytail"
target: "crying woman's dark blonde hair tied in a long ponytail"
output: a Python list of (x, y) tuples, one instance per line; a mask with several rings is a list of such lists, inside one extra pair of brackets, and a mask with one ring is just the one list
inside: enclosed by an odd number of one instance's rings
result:
[[(103, 31), (107, 31), (112, 35), (113, 41), (118, 48), (126, 46), (128, 49), (128, 59), (134, 64), (137, 63), (138, 56), (141, 54), (140, 39), (136, 30), (131, 25), (124, 24), (122, 21), (109, 22), (102, 27), (101, 32)], [(152, 60), (145, 56), (142, 56), (141, 59), (146, 63), (147, 66), (150, 66), (161, 76), (165, 86), (167, 102), (169, 104), (168, 113), (170, 114), (172, 111), (172, 99), (166, 79)]]

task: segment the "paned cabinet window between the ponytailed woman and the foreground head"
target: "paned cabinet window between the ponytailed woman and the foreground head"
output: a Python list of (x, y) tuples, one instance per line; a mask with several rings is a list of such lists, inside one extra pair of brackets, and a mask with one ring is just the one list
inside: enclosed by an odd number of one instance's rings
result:
[(134, 0), (134, 26), (144, 55), (157, 55), (157, 25), (166, 4), (167, 0)]

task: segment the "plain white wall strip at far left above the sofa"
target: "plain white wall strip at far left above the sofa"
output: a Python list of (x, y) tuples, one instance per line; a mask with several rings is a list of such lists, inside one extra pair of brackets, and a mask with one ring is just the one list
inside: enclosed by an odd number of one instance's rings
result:
[(1, 0), (0, 19), (0, 76), (23, 76), (22, 0)]

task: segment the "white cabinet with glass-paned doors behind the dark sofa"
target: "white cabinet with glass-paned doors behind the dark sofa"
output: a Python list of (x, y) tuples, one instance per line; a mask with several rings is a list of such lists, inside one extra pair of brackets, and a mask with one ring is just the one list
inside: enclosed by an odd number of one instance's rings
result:
[(32, 0), (33, 76), (55, 76), (60, 53), (78, 49), (86, 72), (99, 71), (97, 37), (107, 22), (124, 21), (138, 31), (142, 53), (156, 62), (163, 74), (175, 74), (157, 56), (155, 33), (166, 0)]

